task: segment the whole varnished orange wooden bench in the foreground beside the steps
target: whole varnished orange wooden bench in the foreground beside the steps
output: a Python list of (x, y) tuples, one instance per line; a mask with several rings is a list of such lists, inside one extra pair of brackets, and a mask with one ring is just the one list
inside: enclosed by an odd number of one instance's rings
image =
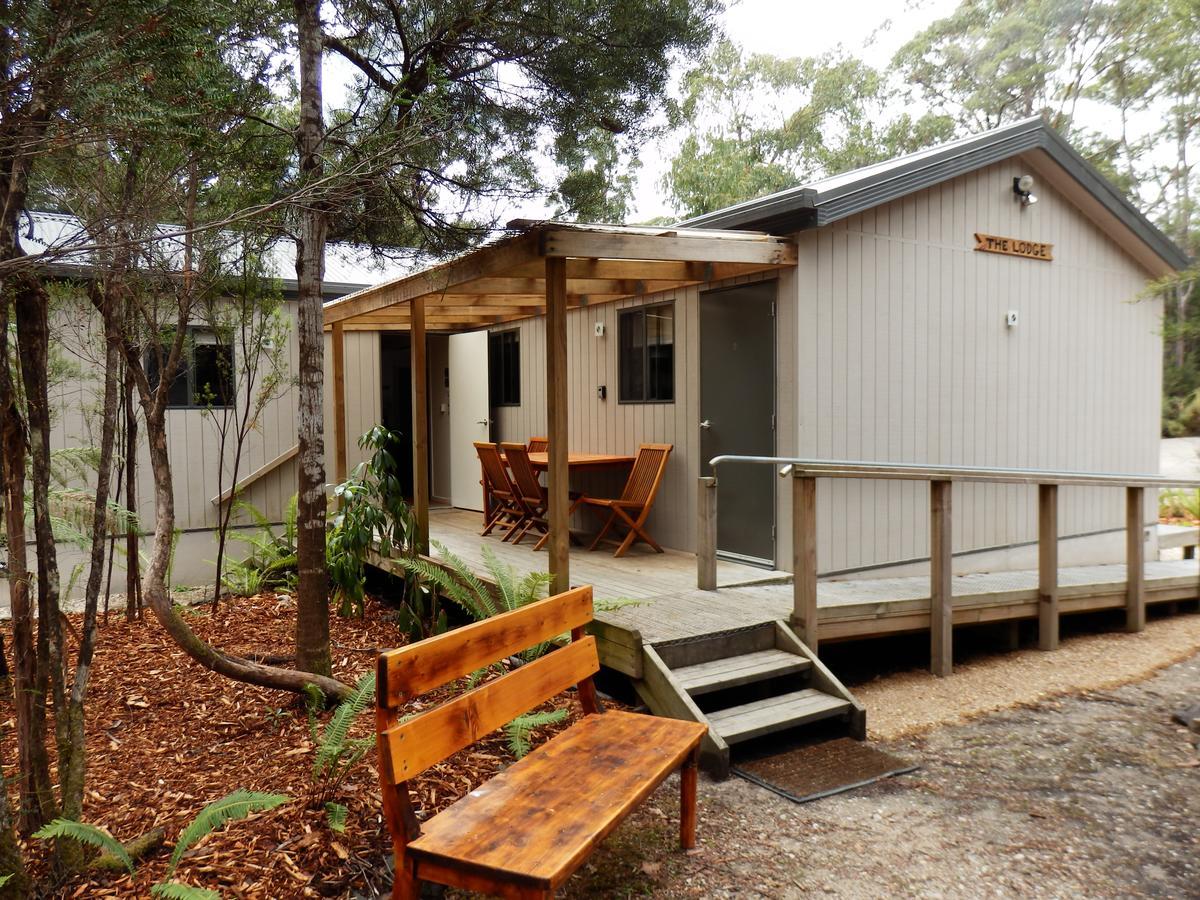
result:
[[(377, 683), (379, 779), (396, 853), (394, 898), (422, 881), (505, 898), (545, 898), (673, 770), (680, 769), (680, 841), (696, 840), (698, 722), (604, 712), (592, 588), (380, 654)], [(538, 660), (398, 721), (403, 706), (492, 662), (570, 632)], [(518, 715), (578, 688), (584, 716), (425, 822), (408, 781)]]

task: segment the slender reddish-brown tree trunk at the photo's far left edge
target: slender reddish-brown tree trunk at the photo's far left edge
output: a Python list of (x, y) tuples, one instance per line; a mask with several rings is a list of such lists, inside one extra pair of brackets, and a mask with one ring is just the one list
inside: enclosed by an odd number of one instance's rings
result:
[(38, 671), (34, 611), (25, 554), (25, 424), (8, 360), (8, 305), (0, 302), (0, 461), (4, 463), (5, 532), (8, 539), (8, 602), (12, 611), (13, 706), (19, 764), (18, 824), (36, 832), (54, 818), (50, 762), (46, 752), (46, 684)]

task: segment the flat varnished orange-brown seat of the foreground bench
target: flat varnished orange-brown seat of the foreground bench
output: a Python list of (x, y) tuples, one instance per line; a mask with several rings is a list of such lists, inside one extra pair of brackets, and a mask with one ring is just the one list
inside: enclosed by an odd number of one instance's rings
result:
[(421, 824), (418, 877), (504, 896), (558, 888), (695, 751), (698, 722), (587, 715)]

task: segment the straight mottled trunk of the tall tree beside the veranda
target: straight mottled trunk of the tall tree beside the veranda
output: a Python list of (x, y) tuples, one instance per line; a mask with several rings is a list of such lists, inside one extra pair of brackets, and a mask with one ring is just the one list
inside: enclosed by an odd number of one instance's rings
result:
[[(296, 144), (300, 176), (316, 181), (323, 172), (322, 28), (319, 0), (295, 0), (300, 55), (300, 125)], [(296, 245), (299, 294), (299, 485), (296, 498), (296, 557), (300, 584), (296, 590), (296, 666), (306, 672), (329, 674), (329, 584), (325, 571), (325, 422), (323, 391), (325, 338), (320, 282), (324, 276), (326, 218), (323, 204), (300, 208), (300, 240)]]

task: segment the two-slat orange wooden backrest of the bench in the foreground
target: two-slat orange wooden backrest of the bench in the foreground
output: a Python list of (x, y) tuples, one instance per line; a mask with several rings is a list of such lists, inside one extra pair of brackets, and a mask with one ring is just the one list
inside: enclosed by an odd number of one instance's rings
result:
[[(592, 676), (599, 671), (590, 586), (522, 606), (379, 655), (376, 704), (380, 775), (398, 785), (566, 688), (578, 685), (586, 713), (595, 712)], [(414, 697), (564, 632), (571, 642), (494, 680), (414, 715), (396, 712)]]

